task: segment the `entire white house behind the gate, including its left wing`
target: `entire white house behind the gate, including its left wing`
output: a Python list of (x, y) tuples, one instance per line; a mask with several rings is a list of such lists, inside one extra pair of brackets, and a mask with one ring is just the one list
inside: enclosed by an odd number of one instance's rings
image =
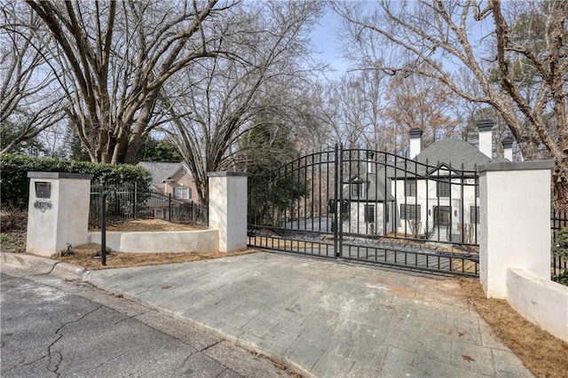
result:
[[(493, 122), (479, 122), (479, 147), (444, 139), (422, 150), (422, 130), (410, 131), (410, 160), (365, 164), (343, 177), (343, 232), (475, 243), (479, 222), (477, 166), (493, 159)], [(512, 139), (503, 140), (512, 160)], [(387, 160), (386, 158), (383, 160)], [(351, 161), (352, 163), (352, 161)], [(376, 171), (378, 169), (378, 172)]]

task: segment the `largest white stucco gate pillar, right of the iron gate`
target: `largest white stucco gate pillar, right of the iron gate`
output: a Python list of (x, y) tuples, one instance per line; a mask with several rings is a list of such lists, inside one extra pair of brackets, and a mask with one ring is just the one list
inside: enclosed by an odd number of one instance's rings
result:
[(493, 162), (479, 171), (479, 280), (505, 298), (508, 268), (550, 279), (550, 183), (554, 161)]

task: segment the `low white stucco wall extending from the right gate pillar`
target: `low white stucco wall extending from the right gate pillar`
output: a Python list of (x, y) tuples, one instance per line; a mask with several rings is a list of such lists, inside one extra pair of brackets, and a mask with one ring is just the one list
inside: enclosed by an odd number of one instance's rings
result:
[(507, 302), (525, 319), (568, 343), (568, 287), (509, 268)]

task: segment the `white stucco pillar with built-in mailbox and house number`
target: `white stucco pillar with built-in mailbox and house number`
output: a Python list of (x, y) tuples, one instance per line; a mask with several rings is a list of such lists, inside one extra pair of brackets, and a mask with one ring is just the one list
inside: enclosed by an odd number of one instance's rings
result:
[(51, 256), (88, 242), (91, 175), (28, 172), (26, 251)]

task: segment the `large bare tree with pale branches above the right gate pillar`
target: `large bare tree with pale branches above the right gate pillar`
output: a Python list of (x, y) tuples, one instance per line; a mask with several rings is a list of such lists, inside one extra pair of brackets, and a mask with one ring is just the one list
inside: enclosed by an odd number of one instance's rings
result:
[[(378, 3), (372, 9), (334, 4), (346, 21), (351, 52), (361, 51), (359, 63), (391, 75), (424, 75), (461, 98), (493, 106), (525, 159), (537, 159), (544, 146), (556, 161), (556, 204), (567, 206), (568, 2), (508, 2), (506, 8), (499, 0)], [(479, 91), (461, 85), (456, 67), (475, 77)]]

